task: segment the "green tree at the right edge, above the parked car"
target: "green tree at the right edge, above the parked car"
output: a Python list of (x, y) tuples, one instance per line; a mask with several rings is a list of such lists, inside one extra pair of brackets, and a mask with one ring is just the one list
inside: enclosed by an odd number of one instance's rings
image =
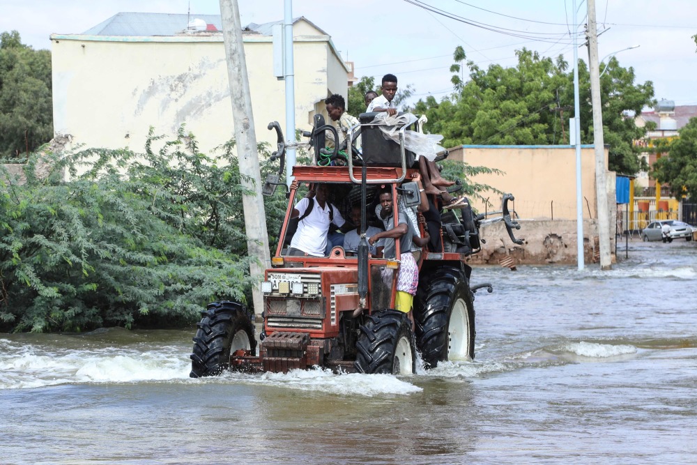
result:
[(671, 185), (671, 195), (680, 200), (684, 195), (697, 198), (697, 118), (692, 118), (679, 131), (680, 137), (668, 144), (668, 156), (656, 160), (651, 176), (659, 183)]

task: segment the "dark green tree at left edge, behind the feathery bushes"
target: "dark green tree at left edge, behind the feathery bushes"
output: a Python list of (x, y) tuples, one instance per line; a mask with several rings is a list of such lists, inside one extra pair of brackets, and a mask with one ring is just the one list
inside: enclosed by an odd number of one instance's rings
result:
[(34, 151), (53, 137), (51, 52), (0, 34), (0, 158)]

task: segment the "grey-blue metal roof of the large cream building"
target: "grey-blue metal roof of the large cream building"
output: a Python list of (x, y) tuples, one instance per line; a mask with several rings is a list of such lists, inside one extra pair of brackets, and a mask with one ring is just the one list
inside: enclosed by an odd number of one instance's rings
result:
[[(187, 30), (187, 26), (194, 20), (204, 20), (206, 31), (222, 31), (220, 15), (185, 15), (180, 13), (116, 13), (104, 22), (84, 31), (86, 36), (176, 36)], [(293, 18), (293, 24), (305, 20), (323, 33), (329, 34), (307, 20), (305, 17)], [(283, 21), (266, 22), (263, 24), (250, 23), (244, 30), (259, 33), (261, 36), (271, 36), (271, 29), (275, 24), (283, 24)], [(211, 26), (215, 26), (213, 29)]]

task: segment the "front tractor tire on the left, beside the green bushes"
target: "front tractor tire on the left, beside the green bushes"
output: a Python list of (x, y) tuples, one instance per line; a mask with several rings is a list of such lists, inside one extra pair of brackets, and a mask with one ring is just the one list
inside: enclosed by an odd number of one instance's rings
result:
[(201, 314), (189, 376), (215, 376), (229, 367), (231, 353), (239, 349), (256, 351), (254, 325), (243, 305), (229, 301), (210, 303)]

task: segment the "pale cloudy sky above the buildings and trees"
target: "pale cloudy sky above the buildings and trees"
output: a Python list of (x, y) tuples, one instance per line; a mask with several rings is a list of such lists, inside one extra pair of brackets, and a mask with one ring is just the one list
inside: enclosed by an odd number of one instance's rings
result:
[[(355, 63), (357, 77), (375, 76), (380, 82), (392, 73), (399, 86), (413, 86), (415, 99), (441, 100), (452, 91), (449, 68), (458, 45), (480, 68), (515, 66), (515, 51), (522, 47), (542, 56), (563, 54), (572, 63), (573, 1), (293, 0), (293, 17), (304, 16), (332, 36), (344, 59)], [(653, 82), (657, 100), (697, 105), (697, 47), (691, 38), (697, 34), (697, 1), (595, 3), (602, 32), (599, 58), (617, 52), (620, 66), (634, 68), (637, 84)], [(238, 4), (242, 24), (283, 19), (284, 0)], [(576, 24), (583, 24), (588, 5), (576, 4)], [(187, 13), (189, 8), (192, 17), (220, 14), (217, 0), (0, 0), (0, 31), (17, 30), (23, 43), (50, 49), (51, 33), (82, 33), (116, 13)], [(578, 31), (583, 43), (583, 26)], [(579, 58), (587, 56), (587, 48), (579, 48)]]

